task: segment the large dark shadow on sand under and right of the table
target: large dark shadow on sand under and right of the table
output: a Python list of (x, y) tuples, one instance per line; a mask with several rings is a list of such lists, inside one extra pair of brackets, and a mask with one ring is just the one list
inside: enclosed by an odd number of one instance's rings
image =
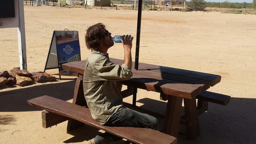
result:
[[(166, 102), (143, 98), (141, 107), (165, 112)], [(199, 116), (200, 136), (186, 140), (186, 133), (179, 133), (178, 144), (253, 144), (256, 142), (256, 98), (231, 98), (228, 105), (209, 103), (208, 111)]]

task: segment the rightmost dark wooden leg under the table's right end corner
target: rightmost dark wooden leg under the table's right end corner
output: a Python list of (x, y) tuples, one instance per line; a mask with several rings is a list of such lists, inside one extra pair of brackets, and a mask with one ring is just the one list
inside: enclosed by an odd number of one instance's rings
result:
[(184, 108), (187, 139), (193, 140), (200, 135), (196, 99), (184, 98)]

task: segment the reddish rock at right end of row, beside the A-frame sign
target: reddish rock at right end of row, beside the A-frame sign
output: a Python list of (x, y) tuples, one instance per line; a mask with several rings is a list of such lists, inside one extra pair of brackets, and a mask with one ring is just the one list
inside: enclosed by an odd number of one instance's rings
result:
[(56, 78), (54, 76), (51, 76), (50, 74), (47, 74), (46, 72), (32, 72), (32, 79), (35, 82), (41, 82), (41, 81), (55, 81)]

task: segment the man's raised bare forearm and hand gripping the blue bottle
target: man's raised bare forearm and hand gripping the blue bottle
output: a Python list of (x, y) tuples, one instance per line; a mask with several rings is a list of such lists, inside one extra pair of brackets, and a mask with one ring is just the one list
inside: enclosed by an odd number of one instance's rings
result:
[(124, 64), (132, 70), (132, 40), (134, 37), (131, 35), (122, 36), (122, 46), (124, 47)]

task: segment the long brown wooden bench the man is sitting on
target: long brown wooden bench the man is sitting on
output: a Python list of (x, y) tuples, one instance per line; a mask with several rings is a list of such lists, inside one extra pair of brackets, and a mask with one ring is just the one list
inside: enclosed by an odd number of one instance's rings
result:
[(87, 107), (82, 107), (80, 105), (72, 104), (50, 96), (40, 96), (38, 98), (33, 98), (31, 100), (28, 100), (28, 103), (34, 107), (45, 109), (46, 111), (50, 112), (43, 112), (42, 119), (44, 127), (52, 126), (52, 124), (49, 124), (47, 121), (50, 121), (52, 119), (54, 120), (55, 118), (58, 119), (59, 116), (56, 115), (61, 115), (66, 117), (66, 119), (59, 118), (59, 120), (65, 121), (71, 118), (89, 126), (102, 129), (113, 135), (117, 135), (118, 137), (130, 140), (131, 142), (134, 142), (136, 144), (177, 143), (175, 137), (149, 128), (103, 126), (93, 120), (90, 110)]

